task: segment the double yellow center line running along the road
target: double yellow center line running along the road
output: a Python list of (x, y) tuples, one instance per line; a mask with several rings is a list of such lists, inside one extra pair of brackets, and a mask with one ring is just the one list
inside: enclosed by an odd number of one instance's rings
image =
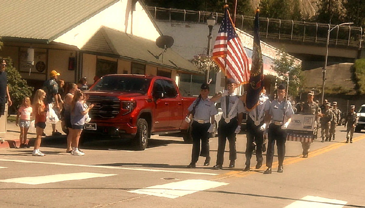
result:
[[(356, 137), (354, 138), (352, 141), (353, 142), (357, 142), (357, 141), (360, 141), (362, 139), (365, 138), (365, 135), (364, 136), (360, 136), (360, 137)], [(331, 150), (334, 150), (334, 149), (337, 149), (341, 146), (344, 146), (344, 145), (348, 145), (345, 143), (345, 140), (342, 141), (342, 142), (337, 142), (337, 143), (334, 143), (334, 144), (331, 144), (331, 145), (328, 145), (328, 146), (325, 146), (323, 148), (319, 148), (317, 150), (314, 150), (312, 152), (310, 152), (310, 154), (308, 154), (308, 158), (312, 158), (312, 157), (316, 157), (320, 154), (323, 154), (323, 153), (326, 153), (326, 152), (329, 152)], [(302, 155), (298, 155), (296, 157), (291, 157), (291, 158), (286, 158), (284, 160), (284, 165), (289, 165), (289, 164), (293, 164), (293, 163), (296, 163), (296, 162), (300, 162), (302, 160), (308, 160), (308, 158), (303, 158), (301, 157)], [(272, 166), (276, 166), (278, 165), (278, 162), (273, 162)], [(254, 169), (255, 166), (252, 166), (251, 169)], [(242, 171), (238, 171), (238, 170), (234, 170), (234, 171), (230, 171), (230, 172), (227, 172), (227, 173), (224, 173), (224, 174), (219, 174), (217, 176), (215, 176), (216, 178), (214, 180), (220, 180), (220, 179), (223, 179), (223, 178), (228, 178), (228, 177), (232, 177), (232, 176), (235, 176), (235, 177), (246, 177), (246, 176), (249, 176), (249, 175), (252, 175), (252, 174), (255, 174), (255, 173), (261, 173), (261, 172), (258, 172), (258, 171), (264, 171), (266, 170), (266, 166), (263, 166), (262, 168), (260, 169), (255, 169), (257, 171), (250, 171), (250, 172), (242, 172)]]

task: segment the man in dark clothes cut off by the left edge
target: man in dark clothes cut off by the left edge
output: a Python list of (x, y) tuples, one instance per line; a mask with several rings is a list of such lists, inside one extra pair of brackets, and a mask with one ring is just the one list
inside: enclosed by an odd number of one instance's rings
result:
[[(0, 59), (1, 60), (1, 59)], [(5, 103), (8, 101), (8, 105), (11, 106), (12, 102), (9, 95), (8, 77), (5, 71), (6, 61), (2, 60), (0, 64), (0, 118), (5, 113)], [(4, 140), (0, 138), (1, 144)]]

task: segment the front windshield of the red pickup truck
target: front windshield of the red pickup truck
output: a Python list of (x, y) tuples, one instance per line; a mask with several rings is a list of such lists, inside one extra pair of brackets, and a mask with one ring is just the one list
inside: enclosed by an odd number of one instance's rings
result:
[(127, 76), (105, 76), (96, 83), (91, 90), (123, 91), (146, 94), (150, 87), (151, 79), (144, 77), (135, 78)]

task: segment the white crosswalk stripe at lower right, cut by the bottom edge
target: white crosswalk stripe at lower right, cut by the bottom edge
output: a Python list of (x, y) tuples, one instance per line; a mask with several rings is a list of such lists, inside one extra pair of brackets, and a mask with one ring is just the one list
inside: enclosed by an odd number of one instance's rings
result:
[(347, 201), (337, 199), (327, 199), (318, 196), (306, 196), (295, 201), (285, 208), (341, 208), (345, 206)]

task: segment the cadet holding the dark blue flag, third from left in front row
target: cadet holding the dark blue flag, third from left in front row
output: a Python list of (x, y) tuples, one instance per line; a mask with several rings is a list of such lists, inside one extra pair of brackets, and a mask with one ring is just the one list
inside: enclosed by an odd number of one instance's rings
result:
[[(264, 121), (265, 114), (269, 113), (270, 99), (264, 93), (261, 93), (258, 104), (249, 113), (247, 118), (247, 144), (246, 144), (246, 167), (243, 171), (250, 171), (252, 152), (256, 143), (256, 169), (260, 169), (262, 166), (262, 147), (264, 142), (264, 131), (266, 129), (266, 123)], [(266, 115), (267, 116), (267, 115)]]

